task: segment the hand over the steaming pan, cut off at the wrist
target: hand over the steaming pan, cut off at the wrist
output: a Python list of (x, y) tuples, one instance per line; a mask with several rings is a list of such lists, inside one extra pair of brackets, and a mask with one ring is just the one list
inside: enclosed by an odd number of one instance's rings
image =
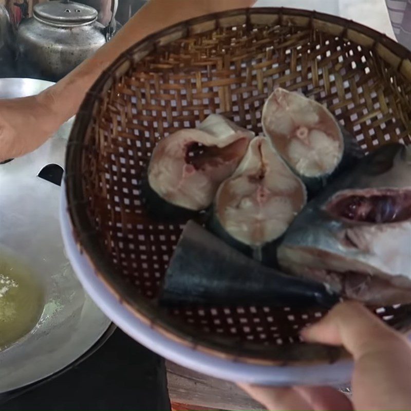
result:
[(63, 122), (48, 94), (0, 100), (0, 161), (35, 150)]

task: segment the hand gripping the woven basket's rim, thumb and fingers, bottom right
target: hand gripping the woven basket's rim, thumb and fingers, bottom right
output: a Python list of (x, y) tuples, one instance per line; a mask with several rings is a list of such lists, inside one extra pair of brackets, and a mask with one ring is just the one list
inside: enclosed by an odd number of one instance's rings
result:
[(411, 344), (364, 306), (339, 304), (301, 334), (308, 342), (342, 345), (352, 354), (352, 398), (331, 387), (240, 384), (267, 409), (411, 409)]

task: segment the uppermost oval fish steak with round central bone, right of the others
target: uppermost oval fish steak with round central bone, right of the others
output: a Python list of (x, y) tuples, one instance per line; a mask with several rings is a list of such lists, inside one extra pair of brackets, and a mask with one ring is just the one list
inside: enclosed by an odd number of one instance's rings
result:
[(357, 141), (327, 108), (297, 92), (275, 88), (261, 121), (275, 150), (310, 191), (321, 189), (343, 158), (347, 163), (361, 156)]

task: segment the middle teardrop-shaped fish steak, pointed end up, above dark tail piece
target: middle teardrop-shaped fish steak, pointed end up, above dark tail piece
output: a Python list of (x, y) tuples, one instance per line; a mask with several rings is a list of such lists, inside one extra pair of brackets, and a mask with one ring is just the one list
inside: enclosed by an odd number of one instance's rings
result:
[(270, 141), (258, 136), (234, 174), (219, 186), (213, 211), (219, 226), (232, 238), (260, 249), (287, 230), (305, 202), (302, 181)]

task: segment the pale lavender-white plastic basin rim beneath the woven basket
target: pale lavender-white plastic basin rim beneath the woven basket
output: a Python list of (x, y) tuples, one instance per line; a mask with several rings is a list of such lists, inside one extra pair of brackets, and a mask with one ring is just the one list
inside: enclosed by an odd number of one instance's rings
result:
[(334, 364), (292, 367), (232, 362), (179, 344), (144, 324), (119, 303), (95, 274), (87, 258), (79, 252), (72, 236), (65, 192), (62, 184), (60, 224), (71, 266), (84, 289), (99, 308), (111, 321), (140, 344), (183, 367), (233, 382), (277, 386), (331, 385), (342, 387), (350, 381), (353, 370), (350, 360), (342, 360)]

